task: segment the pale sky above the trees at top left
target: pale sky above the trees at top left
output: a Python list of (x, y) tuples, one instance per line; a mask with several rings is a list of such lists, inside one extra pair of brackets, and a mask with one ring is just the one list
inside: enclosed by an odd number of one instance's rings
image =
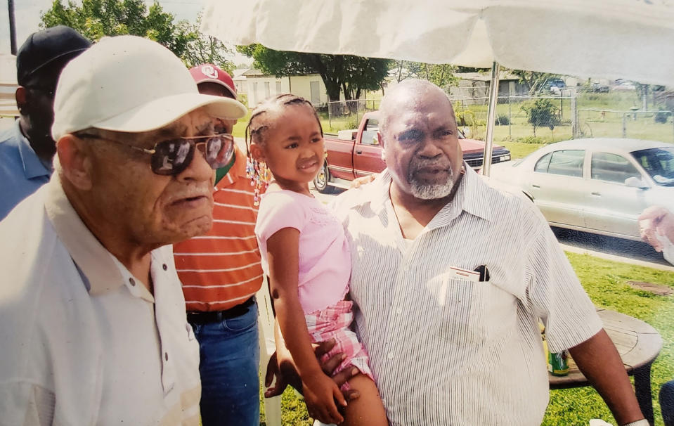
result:
[[(16, 22), (16, 45), (21, 46), (26, 37), (39, 30), (40, 15), (51, 7), (53, 0), (14, 0)], [(65, 3), (67, 0), (62, 0)], [(77, 0), (75, 0), (77, 1)], [(152, 1), (145, 0), (152, 4)], [(194, 22), (202, 10), (205, 0), (159, 0), (164, 11), (172, 13), (176, 20), (186, 19)], [(8, 0), (0, 0), (0, 53), (10, 53)], [(237, 57), (241, 62), (245, 57)], [(249, 59), (247, 59), (249, 61)]]

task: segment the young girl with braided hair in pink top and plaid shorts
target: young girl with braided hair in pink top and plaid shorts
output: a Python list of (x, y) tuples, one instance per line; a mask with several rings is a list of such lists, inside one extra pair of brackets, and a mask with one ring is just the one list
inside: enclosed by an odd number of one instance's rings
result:
[[(318, 115), (309, 101), (290, 94), (271, 98), (250, 117), (247, 128), (258, 186), (273, 181), (261, 198), (255, 233), (285, 345), (302, 378), (311, 417), (346, 425), (387, 425), (368, 355), (349, 328), (351, 257), (342, 224), (309, 193), (309, 182), (323, 167), (325, 144)], [(346, 358), (337, 371), (355, 366), (360, 373), (344, 389), (360, 397), (346, 404), (335, 382), (321, 370), (312, 342), (334, 338)], [(283, 344), (278, 342), (277, 344)], [(344, 407), (344, 418), (335, 400)]]

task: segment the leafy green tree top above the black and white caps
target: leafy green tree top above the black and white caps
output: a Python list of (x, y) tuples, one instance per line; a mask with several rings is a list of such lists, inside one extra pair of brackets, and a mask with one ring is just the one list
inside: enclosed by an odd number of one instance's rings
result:
[(82, 5), (69, 0), (54, 0), (42, 14), (41, 28), (67, 25), (92, 41), (103, 36), (132, 34), (163, 44), (176, 56), (186, 56), (190, 42), (199, 34), (186, 22), (174, 23), (155, 1), (149, 8), (143, 0), (82, 0)]

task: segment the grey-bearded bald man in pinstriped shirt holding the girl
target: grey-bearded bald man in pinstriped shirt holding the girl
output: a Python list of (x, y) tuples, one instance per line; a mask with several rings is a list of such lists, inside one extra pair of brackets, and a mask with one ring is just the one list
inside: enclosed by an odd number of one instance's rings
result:
[(647, 425), (543, 216), (462, 161), (446, 94), (406, 80), (381, 117), (387, 169), (335, 205), (351, 246), (356, 332), (390, 424), (539, 425), (540, 318), (550, 351), (569, 349), (618, 424)]

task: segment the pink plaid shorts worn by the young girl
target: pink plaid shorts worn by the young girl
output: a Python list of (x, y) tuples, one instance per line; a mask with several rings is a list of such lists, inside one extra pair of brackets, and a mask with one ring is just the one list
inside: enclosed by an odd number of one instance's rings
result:
[[(323, 355), (323, 361), (339, 352), (346, 354), (346, 358), (339, 364), (335, 373), (339, 373), (349, 366), (354, 366), (374, 381), (375, 377), (372, 377), (372, 370), (368, 365), (368, 353), (361, 342), (358, 342), (356, 333), (349, 328), (351, 322), (354, 321), (354, 313), (351, 311), (353, 306), (354, 302), (351, 302), (351, 300), (340, 300), (325, 309), (306, 314), (304, 315), (306, 328), (309, 329), (309, 335), (313, 343), (335, 339), (335, 347)], [(342, 390), (348, 389), (349, 384), (344, 383)]]

